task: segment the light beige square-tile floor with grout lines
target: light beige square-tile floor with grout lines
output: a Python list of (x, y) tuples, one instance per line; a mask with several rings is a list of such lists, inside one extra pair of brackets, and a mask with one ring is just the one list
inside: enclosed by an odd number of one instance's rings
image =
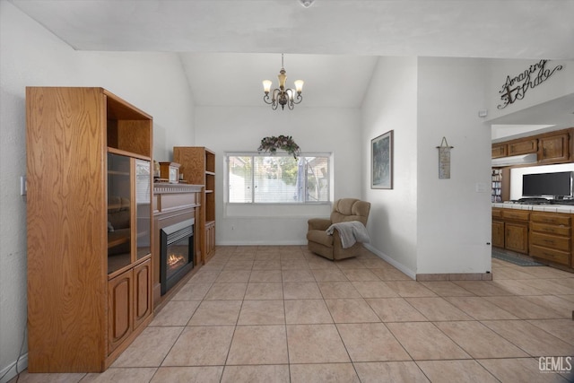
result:
[(18, 381), (574, 381), (539, 364), (574, 355), (574, 274), (492, 259), (492, 276), (419, 283), (367, 250), (217, 248), (109, 370)]

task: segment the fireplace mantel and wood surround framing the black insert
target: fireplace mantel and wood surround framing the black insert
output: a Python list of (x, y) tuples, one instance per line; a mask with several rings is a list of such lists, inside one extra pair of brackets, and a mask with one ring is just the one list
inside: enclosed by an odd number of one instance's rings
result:
[[(177, 291), (177, 286), (172, 291), (161, 296), (160, 282), (160, 232), (161, 229), (189, 219), (196, 219), (201, 201), (203, 185), (170, 184), (167, 182), (153, 184), (153, 301), (156, 309), (161, 308), (161, 302), (170, 298), (170, 293)], [(196, 231), (201, 228), (196, 228)], [(199, 239), (196, 237), (194, 244), (194, 267), (189, 274), (203, 265), (202, 254), (199, 247)], [(184, 282), (182, 280), (181, 282)]]

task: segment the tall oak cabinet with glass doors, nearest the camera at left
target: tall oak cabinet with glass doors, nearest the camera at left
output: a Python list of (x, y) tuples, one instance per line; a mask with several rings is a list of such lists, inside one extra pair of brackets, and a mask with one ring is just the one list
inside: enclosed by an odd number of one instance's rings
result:
[[(28, 370), (101, 372), (152, 320), (152, 177), (135, 175), (152, 174), (152, 117), (102, 88), (29, 87), (26, 118)], [(126, 229), (109, 229), (109, 177)]]

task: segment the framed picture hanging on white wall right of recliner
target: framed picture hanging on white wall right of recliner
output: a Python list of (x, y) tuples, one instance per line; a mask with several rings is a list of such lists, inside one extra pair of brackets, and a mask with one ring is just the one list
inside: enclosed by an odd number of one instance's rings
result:
[(370, 188), (393, 188), (393, 131), (370, 140)]

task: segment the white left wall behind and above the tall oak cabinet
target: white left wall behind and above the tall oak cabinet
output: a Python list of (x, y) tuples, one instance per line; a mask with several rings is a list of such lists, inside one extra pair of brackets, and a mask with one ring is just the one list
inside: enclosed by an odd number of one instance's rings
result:
[[(100, 86), (154, 118), (154, 155), (194, 144), (194, 107), (177, 55), (78, 52), (0, 1), (0, 382), (26, 366), (25, 87)], [(167, 132), (170, 134), (167, 134)]]

